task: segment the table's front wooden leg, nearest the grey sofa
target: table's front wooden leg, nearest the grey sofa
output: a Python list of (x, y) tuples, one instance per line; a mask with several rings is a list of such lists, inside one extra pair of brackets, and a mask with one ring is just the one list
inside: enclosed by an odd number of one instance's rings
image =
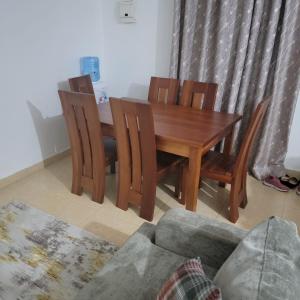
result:
[(186, 209), (196, 211), (200, 169), (201, 169), (201, 157), (202, 151), (199, 148), (191, 148), (189, 154), (189, 163), (185, 170), (185, 187), (184, 187), (184, 200), (186, 203)]

